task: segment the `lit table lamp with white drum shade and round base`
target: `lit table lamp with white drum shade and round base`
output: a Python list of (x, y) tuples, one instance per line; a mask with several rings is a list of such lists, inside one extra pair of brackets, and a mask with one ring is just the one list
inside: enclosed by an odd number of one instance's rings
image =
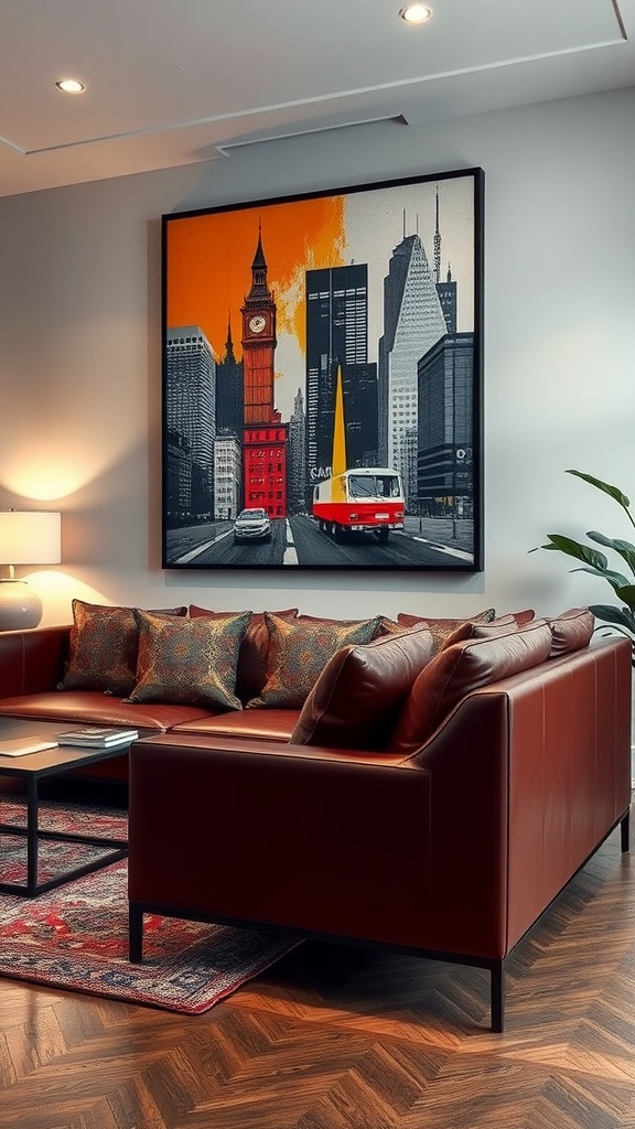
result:
[(59, 564), (61, 516), (49, 510), (0, 511), (0, 564), (9, 576), (0, 578), (0, 631), (36, 628), (42, 601), (26, 580), (15, 576), (16, 564)]

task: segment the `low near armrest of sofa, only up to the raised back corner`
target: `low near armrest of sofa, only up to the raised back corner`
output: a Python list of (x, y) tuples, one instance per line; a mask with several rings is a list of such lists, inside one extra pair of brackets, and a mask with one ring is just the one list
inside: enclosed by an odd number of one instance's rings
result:
[(130, 752), (131, 902), (392, 943), (409, 930), (415, 943), (429, 882), (425, 770), (183, 738)]

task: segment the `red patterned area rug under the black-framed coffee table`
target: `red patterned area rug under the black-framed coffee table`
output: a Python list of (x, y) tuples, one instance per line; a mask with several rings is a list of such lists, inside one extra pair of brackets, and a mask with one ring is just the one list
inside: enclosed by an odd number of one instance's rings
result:
[[(24, 804), (0, 797), (0, 822), (24, 825)], [(125, 838), (125, 822), (123, 812), (49, 800), (40, 825)], [(94, 850), (44, 841), (41, 879)], [(20, 882), (25, 873), (24, 838), (0, 835), (0, 881)], [(288, 935), (146, 914), (143, 963), (130, 964), (127, 881), (122, 861), (38, 898), (0, 894), (0, 977), (199, 1015), (301, 944)]]

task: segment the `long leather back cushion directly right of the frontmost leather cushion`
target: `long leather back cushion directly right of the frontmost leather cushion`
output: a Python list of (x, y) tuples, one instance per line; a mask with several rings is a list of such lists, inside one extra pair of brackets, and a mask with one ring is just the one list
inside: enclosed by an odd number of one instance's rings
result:
[(415, 680), (391, 735), (391, 751), (416, 752), (466, 694), (538, 666), (550, 651), (551, 631), (545, 620), (446, 647)]

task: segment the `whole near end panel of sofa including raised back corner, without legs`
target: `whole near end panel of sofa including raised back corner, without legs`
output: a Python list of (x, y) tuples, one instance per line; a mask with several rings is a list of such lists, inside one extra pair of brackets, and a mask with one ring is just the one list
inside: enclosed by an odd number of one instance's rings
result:
[[(506, 710), (472, 702), (434, 776), (394, 753), (165, 734), (130, 753), (129, 896), (146, 907), (498, 959)], [(482, 758), (452, 771), (453, 751)], [(177, 912), (176, 912), (176, 916)]]

